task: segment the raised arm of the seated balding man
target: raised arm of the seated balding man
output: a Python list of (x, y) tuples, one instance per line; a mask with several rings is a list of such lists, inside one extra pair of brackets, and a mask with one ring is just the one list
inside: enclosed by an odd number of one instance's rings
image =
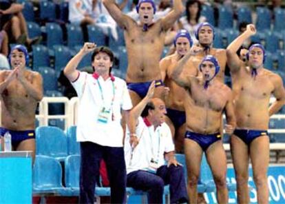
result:
[(140, 101), (140, 103), (138, 103), (138, 105), (136, 105), (131, 110), (131, 112), (129, 112), (129, 123), (128, 123), (129, 134), (130, 134), (129, 142), (133, 147), (136, 147), (136, 145), (138, 145), (138, 138), (136, 136), (136, 125), (138, 124), (138, 117), (140, 116), (140, 114), (142, 114), (142, 111), (145, 109), (145, 106), (154, 96), (155, 84), (156, 84), (155, 81), (151, 83), (145, 98), (143, 98), (142, 101)]

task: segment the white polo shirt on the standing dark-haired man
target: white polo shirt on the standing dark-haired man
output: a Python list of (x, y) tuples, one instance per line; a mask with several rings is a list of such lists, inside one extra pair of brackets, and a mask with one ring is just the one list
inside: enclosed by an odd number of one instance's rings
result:
[[(96, 73), (78, 72), (78, 79), (73, 81), (72, 85), (79, 98), (77, 141), (90, 141), (109, 147), (123, 147), (121, 110), (132, 108), (125, 81), (112, 75), (105, 81)], [(112, 99), (114, 99), (113, 105), (111, 105)], [(107, 123), (98, 121), (102, 108), (111, 106)]]

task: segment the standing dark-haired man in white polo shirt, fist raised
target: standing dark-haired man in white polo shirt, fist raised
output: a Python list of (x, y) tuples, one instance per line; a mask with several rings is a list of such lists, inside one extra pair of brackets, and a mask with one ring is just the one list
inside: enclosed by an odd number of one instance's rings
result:
[[(85, 54), (92, 51), (94, 73), (76, 70)], [(113, 61), (109, 48), (85, 43), (64, 69), (79, 98), (76, 137), (81, 144), (80, 203), (94, 203), (101, 159), (107, 165), (111, 203), (125, 202), (126, 166), (120, 121), (132, 105), (125, 81), (111, 74)]]

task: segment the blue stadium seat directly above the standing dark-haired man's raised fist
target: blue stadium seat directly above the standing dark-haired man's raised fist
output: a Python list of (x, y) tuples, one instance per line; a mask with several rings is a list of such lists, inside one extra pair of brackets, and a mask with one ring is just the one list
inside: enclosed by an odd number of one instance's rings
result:
[(87, 26), (89, 42), (96, 43), (97, 46), (106, 45), (107, 37), (103, 33), (102, 28), (94, 25)]

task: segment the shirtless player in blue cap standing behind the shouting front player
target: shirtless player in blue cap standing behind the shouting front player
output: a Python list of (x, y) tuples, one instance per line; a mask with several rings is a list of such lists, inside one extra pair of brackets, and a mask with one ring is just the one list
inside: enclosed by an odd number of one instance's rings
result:
[(202, 59), (210, 54), (218, 60), (220, 65), (220, 72), (217, 74), (217, 78), (220, 82), (224, 83), (224, 70), (226, 69), (226, 50), (213, 48), (213, 40), (215, 39), (215, 30), (210, 23), (201, 23), (196, 30), (196, 39), (199, 41), (199, 46), (204, 49), (204, 52), (200, 52), (196, 57), (191, 57), (193, 65), (199, 70)]

